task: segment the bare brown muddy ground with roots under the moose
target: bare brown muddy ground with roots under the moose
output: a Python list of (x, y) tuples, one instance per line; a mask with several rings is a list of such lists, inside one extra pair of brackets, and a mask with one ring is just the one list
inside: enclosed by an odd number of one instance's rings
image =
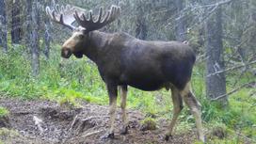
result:
[(109, 128), (107, 106), (82, 104), (81, 108), (71, 109), (49, 101), (6, 98), (0, 98), (0, 105), (7, 107), (10, 112), (8, 118), (0, 120), (0, 139), (11, 144), (189, 144), (197, 137), (194, 131), (188, 131), (165, 141), (163, 136), (168, 120), (157, 121), (156, 130), (141, 131), (140, 121), (144, 116), (135, 110), (128, 110), (129, 134), (121, 136), (119, 109), (115, 138), (103, 139)]

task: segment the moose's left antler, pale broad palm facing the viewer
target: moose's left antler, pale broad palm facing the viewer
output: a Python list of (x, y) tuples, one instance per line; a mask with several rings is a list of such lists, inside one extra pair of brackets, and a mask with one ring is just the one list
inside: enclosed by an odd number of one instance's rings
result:
[(46, 13), (51, 17), (54, 22), (56, 22), (57, 24), (62, 24), (72, 30), (75, 28), (75, 26), (72, 25), (75, 22), (75, 19), (73, 17), (73, 13), (75, 11), (79, 11), (80, 13), (77, 13), (77, 15), (81, 15), (82, 11), (85, 11), (85, 9), (71, 7), (70, 5), (67, 5), (66, 7), (59, 7), (59, 5), (56, 5), (56, 7), (53, 9), (46, 7)]

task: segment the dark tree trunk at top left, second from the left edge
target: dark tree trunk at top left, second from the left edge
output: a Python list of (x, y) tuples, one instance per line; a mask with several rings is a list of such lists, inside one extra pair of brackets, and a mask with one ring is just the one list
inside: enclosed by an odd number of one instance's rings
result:
[(19, 44), (22, 40), (22, 26), (21, 26), (21, 3), (19, 0), (13, 0), (11, 9), (11, 42)]

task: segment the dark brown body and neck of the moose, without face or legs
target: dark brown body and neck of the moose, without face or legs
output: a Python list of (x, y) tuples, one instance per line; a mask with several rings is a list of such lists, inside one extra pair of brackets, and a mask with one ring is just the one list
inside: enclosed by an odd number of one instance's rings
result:
[(183, 42), (137, 40), (126, 33), (99, 31), (85, 39), (83, 48), (73, 54), (94, 61), (106, 83), (143, 90), (173, 84), (182, 90), (190, 80), (195, 54)]

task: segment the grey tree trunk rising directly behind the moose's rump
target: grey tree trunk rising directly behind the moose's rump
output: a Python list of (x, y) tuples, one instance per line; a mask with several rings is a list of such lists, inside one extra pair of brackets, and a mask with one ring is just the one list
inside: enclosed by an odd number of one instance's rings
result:
[(186, 26), (184, 22), (183, 8), (184, 8), (184, 0), (175, 0), (175, 6), (177, 8), (177, 16), (176, 18), (176, 40), (184, 41), (186, 40)]

